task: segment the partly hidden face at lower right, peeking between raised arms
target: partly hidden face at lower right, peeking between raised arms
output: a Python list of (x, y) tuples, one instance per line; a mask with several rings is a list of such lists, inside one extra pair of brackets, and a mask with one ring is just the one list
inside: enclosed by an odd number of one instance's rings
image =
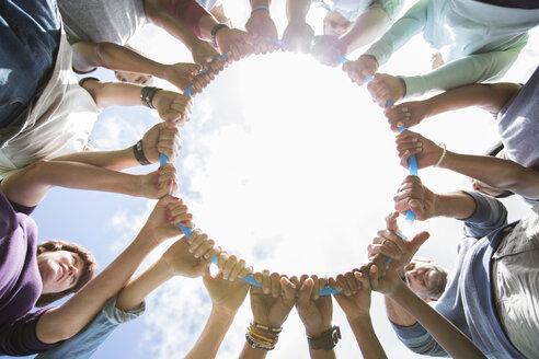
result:
[(431, 260), (410, 263), (404, 267), (404, 275), (410, 289), (425, 299), (438, 299), (447, 282), (447, 273)]

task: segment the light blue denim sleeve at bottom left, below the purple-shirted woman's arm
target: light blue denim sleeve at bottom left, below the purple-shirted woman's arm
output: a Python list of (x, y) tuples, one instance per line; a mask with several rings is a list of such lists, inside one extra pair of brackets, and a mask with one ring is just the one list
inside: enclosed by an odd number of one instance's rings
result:
[(36, 359), (87, 359), (106, 340), (119, 324), (142, 315), (146, 303), (124, 312), (116, 308), (117, 297), (111, 298), (98, 316), (81, 332), (56, 348), (41, 352)]

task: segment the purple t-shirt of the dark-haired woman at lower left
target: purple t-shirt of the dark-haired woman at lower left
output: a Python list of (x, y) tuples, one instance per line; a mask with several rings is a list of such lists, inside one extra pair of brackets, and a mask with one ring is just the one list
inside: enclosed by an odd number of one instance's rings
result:
[(10, 202), (0, 192), (0, 355), (30, 355), (56, 346), (36, 335), (37, 320), (48, 309), (31, 312), (43, 286), (37, 225), (28, 217), (33, 210)]

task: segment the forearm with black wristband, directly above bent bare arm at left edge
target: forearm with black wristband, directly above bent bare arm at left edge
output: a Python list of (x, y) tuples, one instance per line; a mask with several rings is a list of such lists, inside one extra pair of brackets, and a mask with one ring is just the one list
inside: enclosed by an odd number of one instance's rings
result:
[(114, 171), (123, 171), (140, 165), (135, 158), (133, 147), (114, 151), (74, 152), (55, 158), (53, 161), (80, 162)]

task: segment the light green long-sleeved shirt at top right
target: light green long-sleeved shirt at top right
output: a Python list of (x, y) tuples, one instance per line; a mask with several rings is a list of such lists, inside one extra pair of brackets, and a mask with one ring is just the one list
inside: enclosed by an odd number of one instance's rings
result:
[(447, 65), (422, 76), (401, 77), (406, 97), (503, 76), (539, 24), (539, 10), (502, 8), (471, 0), (420, 0), (365, 53), (385, 63), (420, 32), (446, 53)]

